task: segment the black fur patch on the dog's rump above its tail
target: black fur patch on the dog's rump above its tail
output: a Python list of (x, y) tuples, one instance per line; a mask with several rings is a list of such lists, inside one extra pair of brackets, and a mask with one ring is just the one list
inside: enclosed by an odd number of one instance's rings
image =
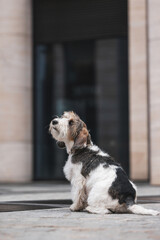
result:
[(118, 199), (119, 204), (132, 205), (135, 202), (136, 191), (129, 182), (128, 177), (122, 168), (116, 169), (117, 178), (109, 188), (109, 194), (113, 199)]

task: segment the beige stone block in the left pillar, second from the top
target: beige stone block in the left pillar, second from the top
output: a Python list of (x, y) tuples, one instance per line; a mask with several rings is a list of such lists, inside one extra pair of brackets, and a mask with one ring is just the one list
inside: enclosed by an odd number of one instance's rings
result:
[(0, 33), (1, 86), (32, 87), (31, 37)]

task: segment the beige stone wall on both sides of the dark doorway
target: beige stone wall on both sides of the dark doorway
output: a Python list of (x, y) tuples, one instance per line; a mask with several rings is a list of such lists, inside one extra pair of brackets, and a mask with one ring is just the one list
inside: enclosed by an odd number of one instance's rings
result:
[[(32, 180), (30, 0), (0, 0), (0, 182)], [(130, 176), (160, 184), (160, 1), (129, 0)]]

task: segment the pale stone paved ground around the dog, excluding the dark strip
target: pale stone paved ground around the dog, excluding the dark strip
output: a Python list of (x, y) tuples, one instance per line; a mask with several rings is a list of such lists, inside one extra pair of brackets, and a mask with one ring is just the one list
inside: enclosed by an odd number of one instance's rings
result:
[[(160, 187), (139, 185), (139, 195), (159, 195)], [(0, 202), (70, 199), (66, 184), (0, 185)], [(160, 210), (160, 203), (144, 204)], [(0, 213), (0, 240), (160, 239), (160, 216), (73, 213), (67, 208)]]

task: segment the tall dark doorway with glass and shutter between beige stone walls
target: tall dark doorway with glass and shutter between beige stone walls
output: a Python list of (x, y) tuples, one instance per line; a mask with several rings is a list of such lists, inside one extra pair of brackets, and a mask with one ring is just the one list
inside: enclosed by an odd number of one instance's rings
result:
[[(113, 3), (119, 5), (113, 0), (34, 1), (37, 180), (64, 179), (67, 156), (48, 134), (48, 124), (67, 110), (79, 114), (93, 142), (129, 172), (127, 1), (121, 2), (119, 11)], [(75, 10), (83, 12), (83, 18), (77, 18)]]

